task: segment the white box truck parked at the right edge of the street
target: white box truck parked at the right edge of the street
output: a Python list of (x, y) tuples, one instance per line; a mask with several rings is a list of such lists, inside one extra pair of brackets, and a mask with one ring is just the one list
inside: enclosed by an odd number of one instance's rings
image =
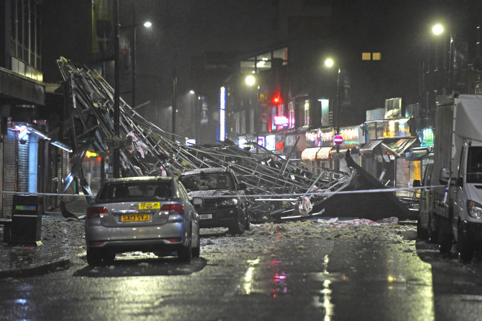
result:
[[(422, 185), (418, 235), (428, 234), (448, 253), (470, 261), (482, 244), (482, 95), (438, 97), (433, 163)], [(427, 185), (426, 185), (427, 184)]]

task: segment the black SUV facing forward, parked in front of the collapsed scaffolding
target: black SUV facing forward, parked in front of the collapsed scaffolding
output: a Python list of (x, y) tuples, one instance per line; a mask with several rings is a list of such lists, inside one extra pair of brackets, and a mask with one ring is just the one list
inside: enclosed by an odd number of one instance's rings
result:
[[(185, 171), (179, 181), (188, 191), (189, 198), (199, 197), (196, 205), (201, 228), (229, 228), (229, 233), (243, 234), (250, 229), (245, 183), (239, 183), (233, 171), (213, 167)], [(216, 197), (227, 196), (232, 197)]]

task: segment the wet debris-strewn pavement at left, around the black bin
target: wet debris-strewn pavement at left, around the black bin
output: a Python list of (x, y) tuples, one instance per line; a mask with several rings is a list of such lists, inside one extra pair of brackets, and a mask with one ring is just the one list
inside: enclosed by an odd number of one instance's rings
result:
[[(75, 197), (66, 203), (77, 217), (85, 215), (87, 201)], [(50, 273), (79, 262), (85, 256), (84, 221), (65, 219), (60, 208), (42, 216), (41, 240), (24, 244), (0, 243), (0, 279)], [(0, 225), (0, 242), (4, 240)], [(37, 244), (38, 243), (38, 244)]]

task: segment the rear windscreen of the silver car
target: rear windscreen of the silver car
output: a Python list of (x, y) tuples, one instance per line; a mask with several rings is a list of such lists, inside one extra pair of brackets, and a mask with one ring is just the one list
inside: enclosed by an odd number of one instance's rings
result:
[(155, 200), (172, 197), (171, 182), (123, 182), (107, 184), (100, 191), (99, 200)]

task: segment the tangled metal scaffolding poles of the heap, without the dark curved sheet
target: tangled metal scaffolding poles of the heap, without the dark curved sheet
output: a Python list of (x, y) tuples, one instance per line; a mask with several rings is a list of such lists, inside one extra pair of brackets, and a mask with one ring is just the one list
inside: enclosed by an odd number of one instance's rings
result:
[[(230, 166), (238, 179), (248, 186), (248, 195), (282, 195), (305, 193), (309, 190), (335, 190), (349, 180), (349, 174), (327, 168), (314, 175), (296, 161), (282, 159), (259, 146), (253, 153), (226, 140), (213, 145), (184, 146), (170, 140), (172, 134), (146, 120), (134, 108), (120, 99), (120, 137), (114, 135), (114, 89), (96, 70), (63, 57), (57, 64), (65, 81), (68, 134), (74, 153), (72, 173), (64, 190), (73, 180), (80, 179), (84, 192), (93, 195), (84, 179), (81, 162), (88, 149), (103, 155), (119, 148), (121, 175), (167, 175), (177, 177), (194, 168)], [(251, 143), (256, 145), (256, 143)], [(107, 154), (108, 153), (108, 154)], [(111, 161), (111, 158), (110, 158)], [(319, 196), (324, 197), (324, 196)], [(282, 201), (254, 201), (252, 211), (261, 212), (282, 206)]]

